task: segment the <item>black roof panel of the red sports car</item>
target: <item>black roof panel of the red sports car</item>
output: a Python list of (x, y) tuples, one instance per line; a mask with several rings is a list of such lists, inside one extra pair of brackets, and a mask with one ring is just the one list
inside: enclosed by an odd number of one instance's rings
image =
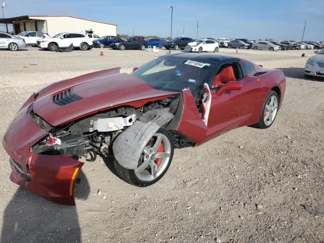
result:
[(213, 55), (213, 54), (201, 54), (201, 53), (174, 53), (167, 54), (161, 57), (175, 57), (183, 59), (193, 59), (198, 61), (208, 61), (208, 62), (224, 62), (224, 61), (239, 61), (237, 57), (227, 56), (227, 55)]

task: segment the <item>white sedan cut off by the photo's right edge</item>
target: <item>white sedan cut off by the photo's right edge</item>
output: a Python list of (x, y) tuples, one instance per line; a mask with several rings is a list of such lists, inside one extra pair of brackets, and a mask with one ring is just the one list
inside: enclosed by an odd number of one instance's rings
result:
[(324, 49), (320, 52), (314, 51), (314, 53), (316, 55), (308, 58), (305, 64), (304, 75), (305, 77), (324, 77)]

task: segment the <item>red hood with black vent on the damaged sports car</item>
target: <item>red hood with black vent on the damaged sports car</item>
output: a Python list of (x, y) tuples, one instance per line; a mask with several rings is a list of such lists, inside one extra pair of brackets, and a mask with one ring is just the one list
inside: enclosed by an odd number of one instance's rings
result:
[[(120, 105), (140, 107), (178, 93), (155, 90), (142, 79), (119, 70), (113, 68), (57, 82), (36, 95), (33, 112), (56, 127), (101, 110)], [(54, 97), (66, 95), (66, 91), (70, 92), (68, 98), (80, 99), (64, 105), (54, 103)]]

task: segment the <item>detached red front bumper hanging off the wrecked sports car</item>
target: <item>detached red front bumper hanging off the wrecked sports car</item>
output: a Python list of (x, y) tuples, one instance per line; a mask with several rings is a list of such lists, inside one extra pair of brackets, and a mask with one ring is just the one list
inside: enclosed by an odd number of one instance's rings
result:
[(84, 163), (65, 154), (33, 153), (30, 147), (48, 135), (29, 116), (31, 96), (18, 111), (3, 138), (10, 156), (12, 182), (63, 205), (75, 205), (74, 182)]

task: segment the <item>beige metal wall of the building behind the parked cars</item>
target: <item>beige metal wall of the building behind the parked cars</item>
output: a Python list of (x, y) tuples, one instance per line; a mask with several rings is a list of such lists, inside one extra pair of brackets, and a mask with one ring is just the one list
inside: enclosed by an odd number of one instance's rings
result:
[[(101, 23), (68, 16), (32, 16), (29, 18), (31, 18), (30, 21), (28, 21), (30, 22), (30, 26), (32, 26), (31, 31), (35, 30), (35, 20), (45, 20), (43, 32), (48, 33), (50, 36), (60, 32), (82, 32), (83, 30), (88, 29), (92, 29), (94, 33), (99, 36), (117, 34), (117, 26), (108, 23)], [(21, 23), (21, 27), (22, 25), (23, 23)]]

